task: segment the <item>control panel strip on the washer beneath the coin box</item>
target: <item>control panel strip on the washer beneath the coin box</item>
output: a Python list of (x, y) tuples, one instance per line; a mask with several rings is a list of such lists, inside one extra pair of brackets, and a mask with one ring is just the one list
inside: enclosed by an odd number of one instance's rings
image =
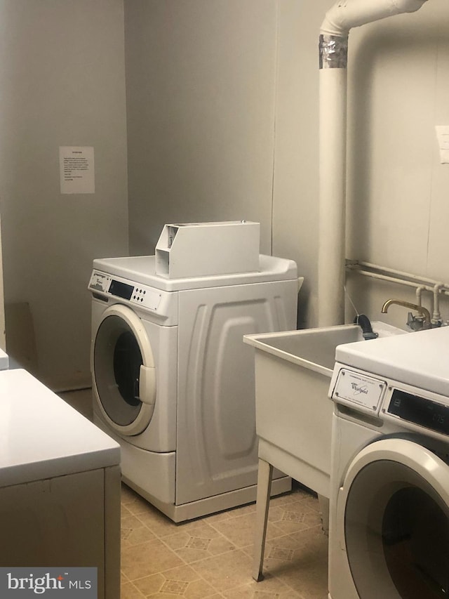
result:
[(111, 277), (105, 272), (94, 270), (88, 288), (102, 294), (112, 295), (130, 303), (141, 305), (148, 310), (157, 311), (161, 303), (161, 293), (141, 284), (134, 284), (121, 277)]

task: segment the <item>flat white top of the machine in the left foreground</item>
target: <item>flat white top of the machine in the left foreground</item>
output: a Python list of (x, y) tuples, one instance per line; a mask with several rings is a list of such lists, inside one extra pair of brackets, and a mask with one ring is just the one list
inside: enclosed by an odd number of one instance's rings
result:
[(120, 462), (120, 446), (22, 369), (0, 371), (0, 487)]

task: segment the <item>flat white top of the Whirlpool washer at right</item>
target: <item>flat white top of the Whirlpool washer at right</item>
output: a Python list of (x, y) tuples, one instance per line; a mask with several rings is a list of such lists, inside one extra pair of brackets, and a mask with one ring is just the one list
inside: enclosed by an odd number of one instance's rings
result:
[(338, 345), (335, 360), (449, 397), (449, 327)]

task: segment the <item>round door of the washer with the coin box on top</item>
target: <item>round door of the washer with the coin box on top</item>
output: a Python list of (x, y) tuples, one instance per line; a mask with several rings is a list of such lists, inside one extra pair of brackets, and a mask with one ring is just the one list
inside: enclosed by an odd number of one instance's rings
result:
[(124, 305), (107, 308), (93, 347), (93, 381), (106, 421), (121, 435), (149, 425), (156, 402), (156, 369), (140, 318)]

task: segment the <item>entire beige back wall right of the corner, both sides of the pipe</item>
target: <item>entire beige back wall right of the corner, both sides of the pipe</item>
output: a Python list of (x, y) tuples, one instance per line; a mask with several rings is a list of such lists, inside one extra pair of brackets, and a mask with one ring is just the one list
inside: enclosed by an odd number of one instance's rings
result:
[[(316, 324), (317, 46), (332, 4), (125, 0), (131, 251), (152, 251), (170, 220), (260, 220), (262, 251), (306, 277), (301, 327)], [(448, 20), (431, 0), (351, 32), (347, 211), (347, 256), (445, 280)], [(373, 318), (410, 296), (348, 287)]]

